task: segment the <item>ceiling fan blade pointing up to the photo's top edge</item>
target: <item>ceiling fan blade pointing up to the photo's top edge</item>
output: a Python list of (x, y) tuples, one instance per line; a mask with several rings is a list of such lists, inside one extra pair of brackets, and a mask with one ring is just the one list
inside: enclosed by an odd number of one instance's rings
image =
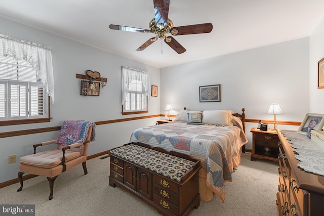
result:
[(153, 0), (154, 4), (154, 14), (155, 14), (155, 24), (161, 23), (164, 26), (160, 28), (164, 28), (168, 25), (168, 14), (169, 14), (169, 0)]

